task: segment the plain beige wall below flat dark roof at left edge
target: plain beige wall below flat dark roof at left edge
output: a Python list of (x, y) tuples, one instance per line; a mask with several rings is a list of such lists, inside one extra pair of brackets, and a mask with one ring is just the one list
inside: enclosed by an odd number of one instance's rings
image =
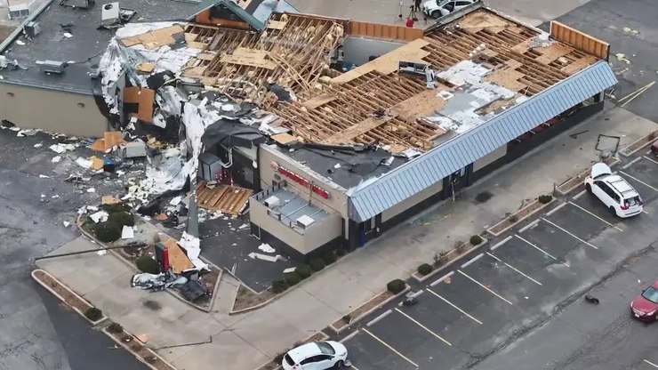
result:
[(0, 84), (0, 119), (21, 128), (52, 133), (102, 137), (108, 120), (92, 95)]

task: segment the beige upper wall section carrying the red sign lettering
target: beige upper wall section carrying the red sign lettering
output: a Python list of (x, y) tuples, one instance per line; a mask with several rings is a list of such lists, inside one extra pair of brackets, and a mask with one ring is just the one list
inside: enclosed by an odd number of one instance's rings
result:
[[(306, 180), (313, 181), (313, 183), (319, 186), (322, 189), (325, 189), (329, 193), (329, 199), (318, 197), (316, 194), (313, 194), (309, 188), (303, 188), (294, 181), (286, 181), (288, 187), (293, 189), (294, 192), (300, 193), (301, 197), (304, 199), (309, 199), (312, 205), (317, 205), (321, 208), (330, 208), (333, 211), (340, 213), (343, 219), (347, 219), (348, 213), (348, 204), (347, 196), (341, 190), (333, 189), (325, 181), (321, 180), (319, 177), (312, 177), (309, 173), (306, 173), (305, 170), (302, 170), (297, 165), (293, 164), (287, 157), (280, 156), (275, 149), (270, 149), (266, 145), (261, 146), (261, 154), (259, 158), (258, 167), (261, 172), (261, 187), (262, 189), (268, 189), (272, 186), (272, 181), (274, 180), (274, 170), (272, 169), (271, 163), (276, 162), (278, 165), (282, 165), (293, 173), (297, 173)], [(285, 179), (284, 176), (281, 176), (282, 179)]]

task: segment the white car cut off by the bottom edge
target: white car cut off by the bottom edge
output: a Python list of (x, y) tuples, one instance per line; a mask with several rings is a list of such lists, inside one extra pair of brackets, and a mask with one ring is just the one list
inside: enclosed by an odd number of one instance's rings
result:
[(348, 350), (339, 342), (310, 342), (289, 350), (281, 364), (284, 370), (325, 370), (345, 366)]

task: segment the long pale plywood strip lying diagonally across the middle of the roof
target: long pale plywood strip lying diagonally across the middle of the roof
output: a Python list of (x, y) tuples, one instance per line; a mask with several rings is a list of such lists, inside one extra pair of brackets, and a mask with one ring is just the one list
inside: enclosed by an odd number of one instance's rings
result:
[(429, 52), (422, 50), (422, 47), (428, 44), (429, 42), (422, 38), (413, 40), (409, 44), (398, 47), (392, 52), (387, 52), (375, 60), (343, 73), (341, 76), (333, 77), (332, 84), (344, 84), (373, 71), (377, 71), (382, 75), (389, 75), (397, 71), (400, 60), (424, 63), (423, 59), (429, 55)]

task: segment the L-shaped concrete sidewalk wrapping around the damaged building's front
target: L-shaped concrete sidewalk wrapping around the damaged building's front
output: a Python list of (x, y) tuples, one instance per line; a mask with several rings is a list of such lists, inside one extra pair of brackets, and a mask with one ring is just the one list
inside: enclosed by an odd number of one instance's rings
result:
[[(219, 302), (215, 302), (214, 312), (207, 314), (171, 294), (132, 289), (132, 270), (110, 253), (61, 257), (38, 265), (126, 330), (148, 334), (153, 348), (203, 342), (213, 335), (213, 343), (159, 351), (181, 369), (221, 364), (226, 370), (250, 370), (353, 310), (384, 289), (389, 280), (408, 277), (419, 264), (432, 261), (437, 251), (451, 249), (455, 241), (480, 234), (527, 200), (550, 193), (554, 183), (566, 181), (598, 160), (598, 134), (621, 136), (623, 148), (656, 129), (653, 122), (624, 109), (608, 109), (478, 182), (456, 202), (437, 205), (350, 253), (277, 301), (242, 315), (228, 314), (237, 285), (231, 277), (222, 277)], [(572, 133), (580, 134), (573, 138)], [(475, 196), (483, 191), (493, 196), (477, 203)], [(97, 245), (79, 237), (53, 253), (94, 247)]]

